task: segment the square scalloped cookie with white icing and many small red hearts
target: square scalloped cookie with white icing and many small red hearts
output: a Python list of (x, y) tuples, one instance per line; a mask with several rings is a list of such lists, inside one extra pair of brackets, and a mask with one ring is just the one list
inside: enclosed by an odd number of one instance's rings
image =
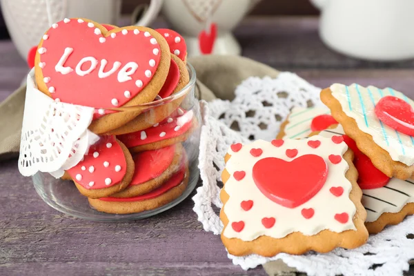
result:
[(326, 253), (368, 239), (353, 152), (344, 141), (234, 144), (222, 174), (221, 240), (237, 256)]

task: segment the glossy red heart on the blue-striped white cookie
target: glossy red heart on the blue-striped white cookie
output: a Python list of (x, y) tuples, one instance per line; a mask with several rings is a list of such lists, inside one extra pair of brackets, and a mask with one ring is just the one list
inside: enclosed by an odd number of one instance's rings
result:
[(375, 115), (390, 128), (414, 136), (414, 109), (403, 99), (383, 97), (375, 106)]

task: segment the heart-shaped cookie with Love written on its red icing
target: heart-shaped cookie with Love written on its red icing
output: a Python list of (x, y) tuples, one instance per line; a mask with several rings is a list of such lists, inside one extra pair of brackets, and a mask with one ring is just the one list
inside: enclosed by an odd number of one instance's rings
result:
[(63, 19), (43, 35), (35, 57), (39, 90), (52, 99), (96, 109), (97, 134), (126, 124), (141, 112), (111, 108), (148, 103), (166, 81), (168, 43), (155, 30), (112, 28), (88, 19)]

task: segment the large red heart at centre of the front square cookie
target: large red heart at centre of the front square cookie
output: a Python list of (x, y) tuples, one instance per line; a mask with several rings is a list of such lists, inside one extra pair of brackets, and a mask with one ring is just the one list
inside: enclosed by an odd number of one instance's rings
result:
[[(301, 168), (301, 173), (297, 173)], [(316, 195), (328, 177), (328, 166), (317, 155), (302, 155), (292, 161), (275, 157), (260, 159), (253, 166), (257, 188), (277, 204), (295, 208)]]

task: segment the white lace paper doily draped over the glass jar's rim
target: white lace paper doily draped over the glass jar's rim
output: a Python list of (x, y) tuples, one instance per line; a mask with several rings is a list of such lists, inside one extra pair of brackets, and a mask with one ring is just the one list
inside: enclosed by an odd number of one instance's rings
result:
[(21, 128), (19, 171), (24, 176), (50, 172), (61, 177), (99, 137), (88, 130), (94, 108), (61, 103), (37, 90), (34, 70), (27, 79)]

